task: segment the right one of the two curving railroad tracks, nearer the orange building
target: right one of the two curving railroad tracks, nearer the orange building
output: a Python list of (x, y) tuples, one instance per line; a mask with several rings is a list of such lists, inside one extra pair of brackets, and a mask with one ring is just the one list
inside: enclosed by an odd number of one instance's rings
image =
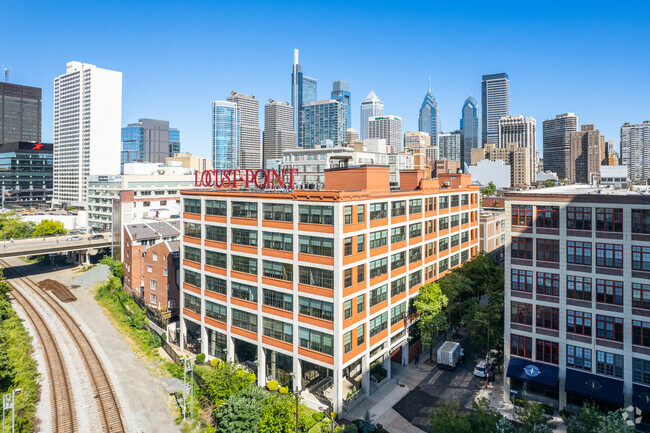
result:
[[(99, 408), (102, 430), (106, 433), (126, 432), (124, 422), (122, 421), (122, 413), (119, 403), (115, 393), (113, 392), (110, 380), (108, 379), (108, 374), (97, 356), (95, 349), (93, 349), (92, 344), (90, 344), (86, 335), (81, 331), (79, 325), (77, 325), (65, 308), (59, 305), (59, 303), (57, 303), (51, 296), (47, 295), (43, 289), (38, 287), (36, 283), (22, 272), (11, 268), (11, 265), (4, 260), (0, 260), (0, 267), (4, 268), (5, 273), (9, 272), (15, 275), (15, 279), (27, 285), (37, 296), (43, 299), (70, 333), (72, 340), (75, 342), (75, 345), (79, 349), (79, 353), (84, 360), (88, 376), (93, 385), (95, 400), (97, 400)], [(8, 275), (5, 276), (8, 277)]]

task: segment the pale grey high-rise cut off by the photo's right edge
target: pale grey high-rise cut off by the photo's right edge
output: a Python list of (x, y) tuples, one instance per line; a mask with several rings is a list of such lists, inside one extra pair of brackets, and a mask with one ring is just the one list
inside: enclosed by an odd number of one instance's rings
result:
[(621, 126), (621, 165), (627, 165), (630, 180), (650, 179), (650, 120)]

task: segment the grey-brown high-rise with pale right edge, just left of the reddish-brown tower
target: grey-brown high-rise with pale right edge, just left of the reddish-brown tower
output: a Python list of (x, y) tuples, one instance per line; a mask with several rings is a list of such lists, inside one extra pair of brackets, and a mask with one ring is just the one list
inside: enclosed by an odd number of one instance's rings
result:
[(567, 179), (571, 164), (571, 133), (578, 130), (578, 116), (573, 113), (558, 114), (543, 123), (544, 170)]

